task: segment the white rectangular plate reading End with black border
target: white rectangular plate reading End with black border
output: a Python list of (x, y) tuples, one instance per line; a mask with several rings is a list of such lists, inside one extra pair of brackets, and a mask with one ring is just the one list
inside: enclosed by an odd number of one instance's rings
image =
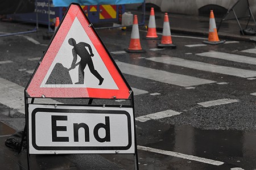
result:
[(29, 104), (30, 154), (134, 154), (133, 108)]

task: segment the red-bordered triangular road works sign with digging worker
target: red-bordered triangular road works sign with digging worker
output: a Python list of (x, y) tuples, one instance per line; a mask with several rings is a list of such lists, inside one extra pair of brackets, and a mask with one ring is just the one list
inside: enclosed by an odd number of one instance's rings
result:
[(72, 3), (26, 93), (28, 97), (128, 99), (131, 88), (80, 5)]

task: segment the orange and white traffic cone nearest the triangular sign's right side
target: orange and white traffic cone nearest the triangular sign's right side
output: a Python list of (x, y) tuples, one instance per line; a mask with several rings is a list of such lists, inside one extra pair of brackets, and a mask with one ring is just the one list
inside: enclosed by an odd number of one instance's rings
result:
[(131, 29), (131, 40), (129, 48), (125, 49), (126, 52), (142, 53), (145, 52), (141, 48), (141, 41), (139, 40), (139, 26), (137, 15), (133, 18), (133, 28)]

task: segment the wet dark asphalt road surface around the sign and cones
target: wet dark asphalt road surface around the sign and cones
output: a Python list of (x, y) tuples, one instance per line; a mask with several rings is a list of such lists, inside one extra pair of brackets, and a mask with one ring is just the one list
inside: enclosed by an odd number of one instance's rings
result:
[[(6, 23), (9, 24), (9, 23)], [(20, 27), (27, 27), (22, 25)], [(10, 29), (14, 29), (11, 27)], [(3, 32), (8, 30), (3, 30)], [(42, 33), (42, 32), (41, 32)], [(102, 41), (109, 52), (119, 52), (129, 46), (130, 30), (119, 29), (98, 30)], [(49, 40), (43, 40), (42, 34), (26, 35), (40, 42), (35, 44), (24, 36), (10, 36), (0, 38), (1, 61), (11, 60), (8, 64), (1, 64), (0, 77), (19, 86), (25, 87), (38, 61), (28, 58), (42, 57), (47, 50)], [(150, 69), (162, 70), (170, 73), (189, 75), (196, 78), (212, 80), (214, 83), (191, 86), (186, 88), (170, 83), (152, 79), (123, 74), (131, 87), (146, 91), (145, 94), (135, 96), (135, 117), (144, 116), (162, 111), (180, 112), (177, 116), (136, 121), (137, 145), (139, 146), (138, 158), (140, 169), (256, 169), (255, 141), (256, 141), (256, 92), (255, 80), (238, 76), (189, 69), (168, 63), (154, 62), (147, 58), (176, 57), (192, 61), (210, 63), (219, 66), (235, 67), (244, 70), (256, 71), (253, 63), (242, 63), (202, 57), (196, 54), (204, 52), (224, 52), (239, 54), (255, 58), (253, 53), (243, 53), (242, 50), (255, 48), (254, 42), (234, 42), (216, 46), (188, 47), (185, 45), (201, 44), (203, 39), (181, 37), (173, 35), (172, 40), (177, 45), (176, 49), (150, 50), (156, 48), (159, 40), (146, 40), (146, 32), (140, 32), (142, 48), (146, 53), (122, 53), (112, 57), (116, 62), (129, 63)], [(205, 38), (205, 37), (204, 37)], [(227, 40), (228, 41), (228, 40)], [(122, 67), (120, 67), (122, 71)], [(146, 73), (145, 73), (146, 74)], [(168, 78), (167, 78), (168, 79)], [(184, 79), (184, 82), (186, 80)], [(190, 87), (190, 86), (189, 86)], [(158, 95), (152, 95), (152, 94)], [(217, 99), (236, 99), (237, 102), (202, 107), (198, 103)], [(84, 100), (68, 101), (56, 99), (63, 103), (84, 103)], [(125, 101), (103, 101), (105, 103), (123, 104)], [(93, 104), (102, 101), (95, 100)], [(1, 121), (7, 118), (24, 118), (23, 114), (1, 107)], [(9, 114), (11, 113), (11, 114)], [(15, 115), (15, 116), (13, 116)], [(18, 129), (18, 128), (17, 128)], [(157, 148), (161, 153), (144, 151), (142, 147)], [(168, 155), (172, 151), (185, 154), (185, 157)], [(173, 153), (172, 153), (173, 154)], [(192, 159), (187, 155), (198, 158), (210, 159), (220, 163), (213, 165), (209, 162)], [(132, 155), (101, 155), (116, 163), (123, 169), (133, 169)]]

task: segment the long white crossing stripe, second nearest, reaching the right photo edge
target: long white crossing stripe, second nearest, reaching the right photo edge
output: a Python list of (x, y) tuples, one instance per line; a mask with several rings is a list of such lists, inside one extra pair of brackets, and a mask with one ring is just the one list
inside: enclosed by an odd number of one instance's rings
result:
[[(167, 64), (171, 64), (171, 65), (176, 65), (176, 66), (187, 67), (190, 69), (239, 76), (242, 78), (249, 78), (249, 77), (256, 76), (256, 71), (253, 71), (253, 70), (244, 70), (244, 69), (237, 69), (237, 68), (233, 68), (233, 67), (212, 65), (210, 63), (191, 61), (191, 60), (187, 60), (187, 59), (183, 59), (183, 58), (152, 57), (152, 58), (146, 58), (146, 59), (155, 61), (155, 62), (160, 62), (160, 63), (167, 63)], [(255, 58), (255, 61), (256, 61), (256, 58)]]

